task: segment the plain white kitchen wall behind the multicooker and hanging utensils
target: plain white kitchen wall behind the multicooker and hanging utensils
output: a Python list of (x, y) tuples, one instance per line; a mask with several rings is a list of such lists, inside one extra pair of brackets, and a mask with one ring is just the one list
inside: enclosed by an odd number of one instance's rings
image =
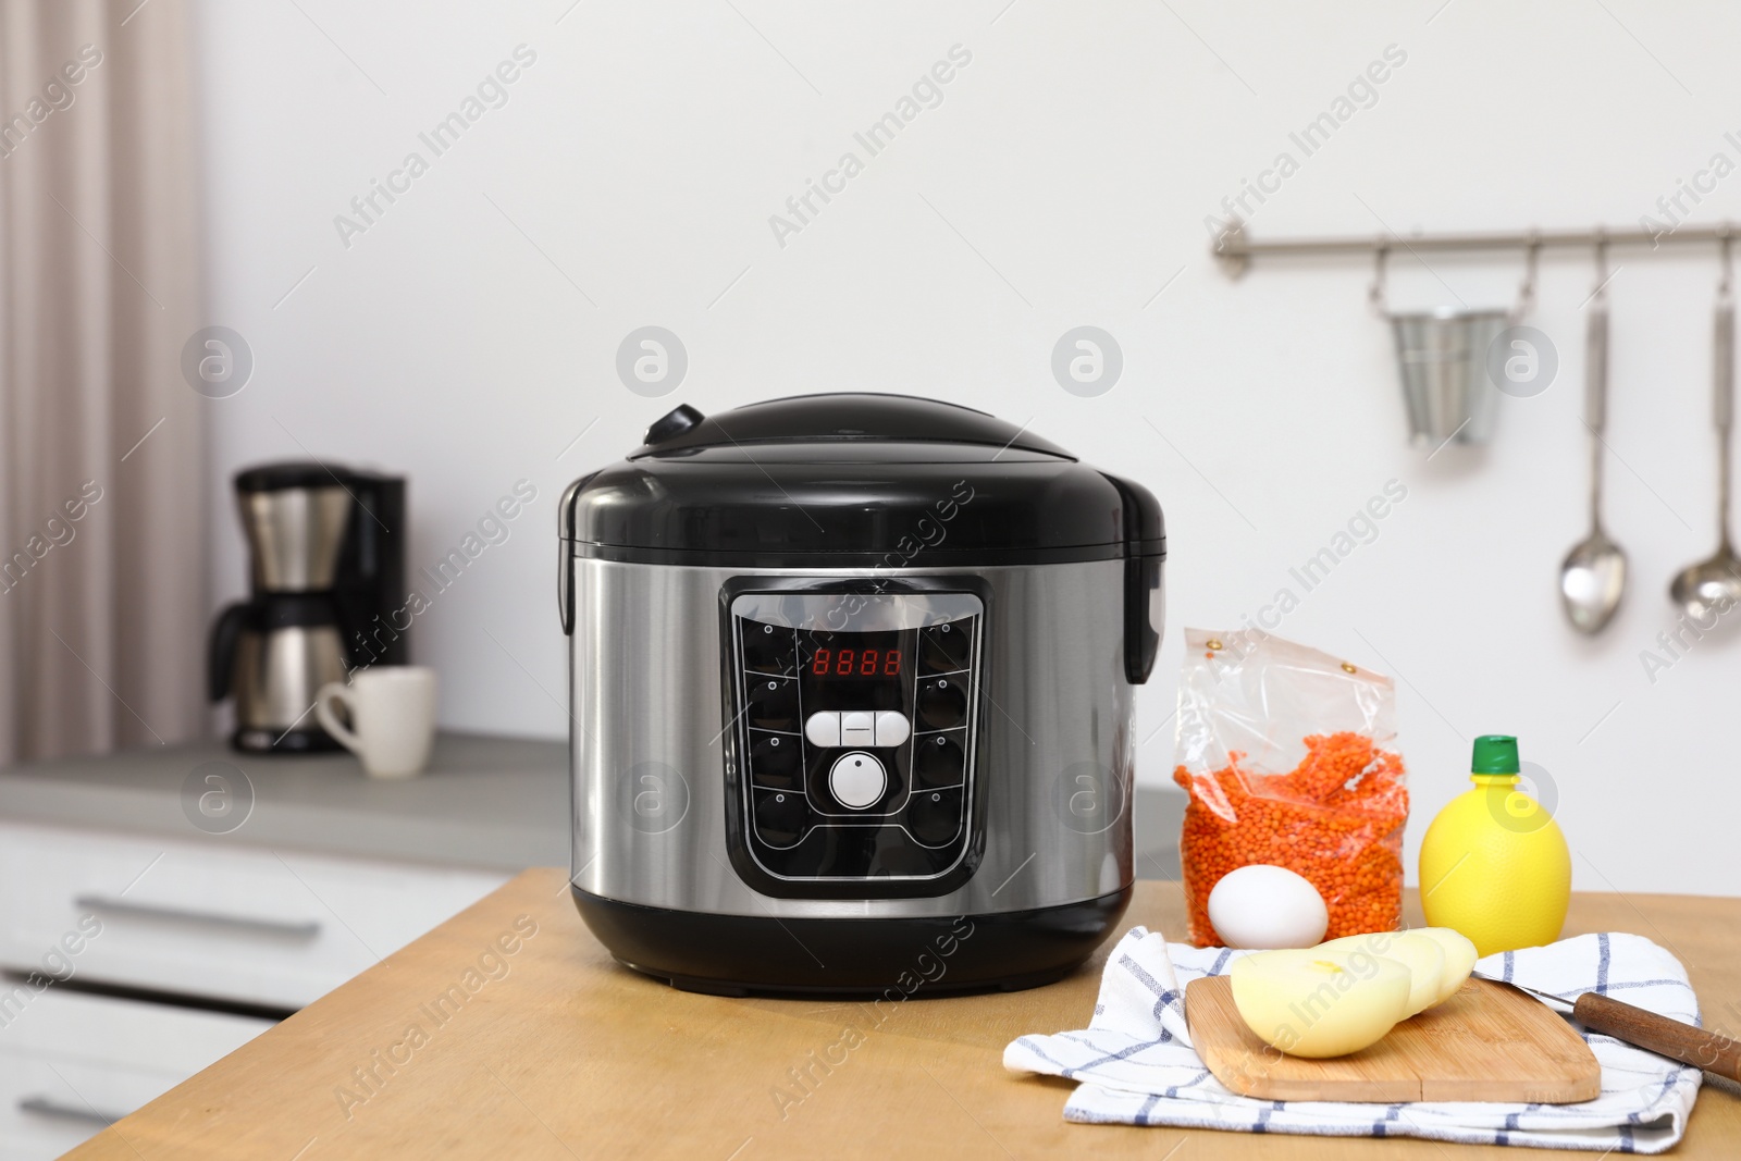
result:
[[(1713, 547), (1711, 252), (1612, 256), (1609, 524), (1635, 583), (1607, 635), (1583, 641), (1562, 625), (1555, 571), (1584, 526), (1588, 256), (1543, 261), (1530, 322), (1558, 343), (1558, 383), (1506, 400), (1485, 454), (1426, 463), (1403, 440), (1367, 263), (1273, 263), (1236, 284), (1203, 228), (1281, 150), (1302, 165), (1257, 209), (1257, 237), (1631, 226), (1713, 153), (1741, 160), (1724, 139), (1741, 131), (1741, 12), (735, 5), (204, 5), (211, 320), (258, 359), (254, 381), (212, 404), (219, 529), (233, 529), (239, 465), (306, 449), (411, 473), (420, 566), (533, 480), (540, 500), (512, 540), (420, 618), (414, 649), (440, 668), (449, 726), (559, 735), (552, 508), (568, 480), (677, 402), (860, 388), (958, 400), (1161, 496), (1173, 623), (1139, 714), (1142, 736), (1158, 731), (1142, 780), (1163, 783), (1179, 628), (1255, 613), (1398, 479), (1408, 498), (1379, 540), (1281, 632), (1402, 679), (1410, 863), (1424, 822), (1466, 785), (1468, 740), (1513, 731), (1556, 783), (1579, 888), (1741, 891), (1727, 849), (1741, 642), (1704, 641), (1654, 684), (1640, 663), (1671, 625), (1670, 576)], [(334, 216), (407, 151), (428, 157), (418, 132), (519, 44), (536, 64), (508, 104), (346, 249)], [(971, 64), (944, 103), (776, 244), (770, 214), (956, 44)], [(1407, 63), (1302, 158), (1288, 132), (1386, 45)], [(1738, 209), (1729, 178), (1694, 218)], [(1518, 272), (1515, 254), (1398, 261), (1395, 299), (1504, 305)], [(644, 324), (689, 352), (667, 399), (632, 395), (613, 371)], [(1078, 324), (1125, 352), (1099, 399), (1048, 371)], [(212, 587), (228, 597), (240, 538), (216, 541)]]

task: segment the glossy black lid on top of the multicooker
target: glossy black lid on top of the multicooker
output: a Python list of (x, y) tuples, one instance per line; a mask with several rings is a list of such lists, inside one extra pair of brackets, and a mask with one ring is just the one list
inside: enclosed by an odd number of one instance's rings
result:
[(1165, 555), (1140, 484), (971, 407), (912, 395), (797, 395), (716, 416), (681, 406), (559, 513), (618, 560), (928, 567)]

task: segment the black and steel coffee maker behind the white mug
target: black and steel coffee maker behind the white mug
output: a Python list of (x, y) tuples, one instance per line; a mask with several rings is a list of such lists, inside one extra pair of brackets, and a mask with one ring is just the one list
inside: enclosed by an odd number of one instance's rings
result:
[(232, 745), (336, 750), (315, 693), (359, 665), (404, 665), (406, 480), (322, 463), (239, 472), (252, 595), (218, 614), (207, 693), (235, 698)]

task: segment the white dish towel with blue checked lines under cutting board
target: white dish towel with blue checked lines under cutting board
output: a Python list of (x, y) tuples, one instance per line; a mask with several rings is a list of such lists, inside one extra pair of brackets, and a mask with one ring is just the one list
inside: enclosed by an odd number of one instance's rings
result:
[[(1106, 963), (1093, 1020), (1081, 1032), (1024, 1036), (1003, 1051), (1013, 1072), (1081, 1081), (1065, 1121), (1170, 1124), (1250, 1133), (1424, 1137), (1482, 1145), (1663, 1152), (1687, 1130), (1703, 1074), (1609, 1036), (1584, 1032), (1602, 1064), (1602, 1095), (1572, 1105), (1497, 1102), (1339, 1104), (1255, 1100), (1210, 1076), (1191, 1048), (1184, 994), (1245, 952), (1168, 943), (1132, 928)], [(1638, 935), (1579, 935), (1489, 956), (1483, 975), (1576, 999), (1603, 992), (1699, 1022), (1699, 1003), (1671, 954)]]

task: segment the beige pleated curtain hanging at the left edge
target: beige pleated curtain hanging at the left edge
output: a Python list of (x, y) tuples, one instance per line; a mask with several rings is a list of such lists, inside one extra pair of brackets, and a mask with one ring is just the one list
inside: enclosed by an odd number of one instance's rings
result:
[(204, 731), (179, 0), (0, 0), (0, 762)]

